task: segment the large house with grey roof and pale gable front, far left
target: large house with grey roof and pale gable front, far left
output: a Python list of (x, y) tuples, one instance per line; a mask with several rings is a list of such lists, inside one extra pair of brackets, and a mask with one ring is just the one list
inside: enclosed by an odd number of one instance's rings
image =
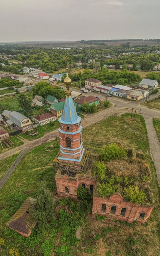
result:
[(30, 131), (33, 129), (33, 124), (31, 120), (16, 111), (12, 111), (10, 113), (8, 121), (6, 122), (9, 126), (17, 128), (17, 130), (21, 130), (22, 132)]

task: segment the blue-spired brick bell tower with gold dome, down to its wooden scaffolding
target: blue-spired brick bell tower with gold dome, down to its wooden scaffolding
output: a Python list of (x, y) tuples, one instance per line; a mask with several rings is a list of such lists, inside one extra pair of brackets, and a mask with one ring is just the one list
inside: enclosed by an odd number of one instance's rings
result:
[(71, 79), (64, 79), (67, 87), (63, 114), (59, 122), (60, 151), (53, 160), (61, 169), (61, 175), (75, 177), (78, 172), (85, 172), (89, 160), (89, 151), (83, 148), (81, 117), (77, 115), (75, 103), (71, 97)]

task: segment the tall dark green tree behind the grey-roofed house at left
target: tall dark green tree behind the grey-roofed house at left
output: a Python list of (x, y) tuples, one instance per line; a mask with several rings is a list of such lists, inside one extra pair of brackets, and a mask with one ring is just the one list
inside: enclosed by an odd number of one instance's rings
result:
[(24, 115), (28, 118), (31, 118), (33, 115), (33, 110), (31, 108), (31, 100), (24, 94), (20, 94), (17, 97), (17, 101), (20, 104), (20, 107), (23, 109)]

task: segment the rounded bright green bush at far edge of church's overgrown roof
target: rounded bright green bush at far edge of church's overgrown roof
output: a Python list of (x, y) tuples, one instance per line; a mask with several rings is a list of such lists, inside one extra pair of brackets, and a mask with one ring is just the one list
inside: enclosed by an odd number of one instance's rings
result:
[(102, 146), (102, 149), (100, 151), (100, 157), (102, 160), (105, 161), (115, 160), (119, 158), (127, 158), (127, 152), (121, 146), (119, 147), (117, 144), (111, 143), (108, 146)]

